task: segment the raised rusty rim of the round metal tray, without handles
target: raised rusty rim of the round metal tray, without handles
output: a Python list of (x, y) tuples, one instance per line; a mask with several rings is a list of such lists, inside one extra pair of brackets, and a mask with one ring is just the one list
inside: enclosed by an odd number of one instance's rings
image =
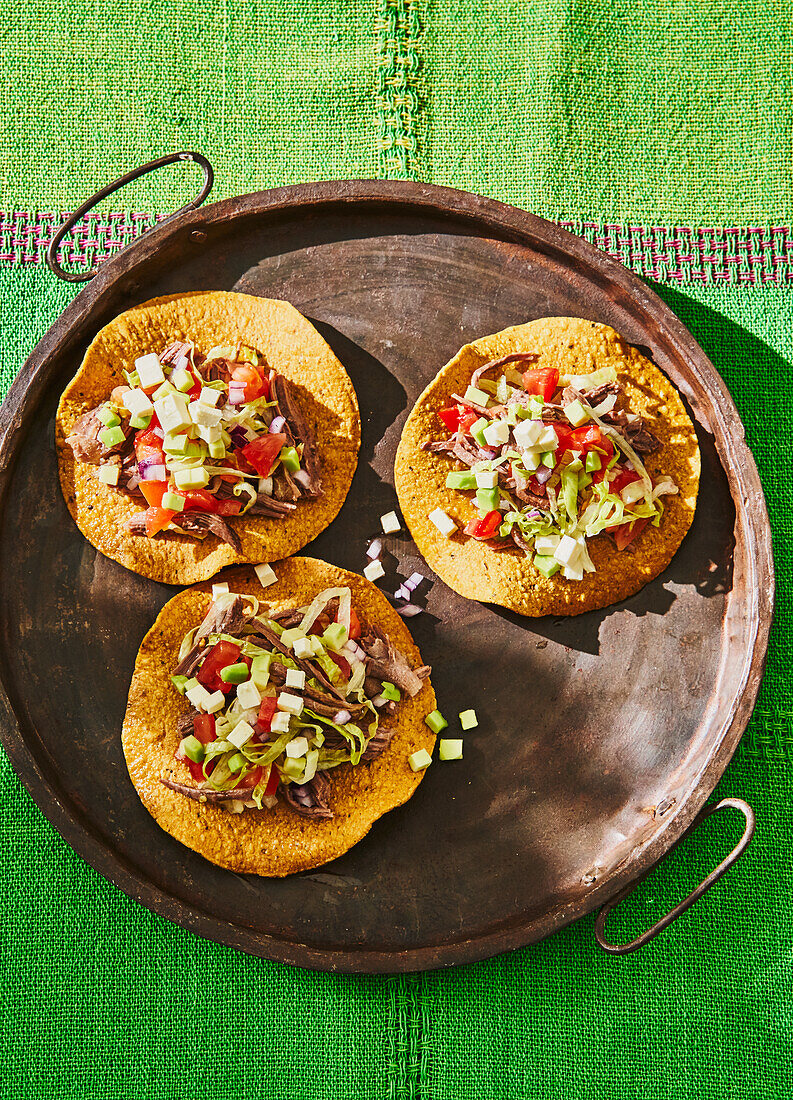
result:
[[(1, 673), (0, 740), (16, 776), (66, 843), (128, 897), (161, 916), (205, 938), (295, 966), (355, 974), (410, 972), (473, 963), (544, 938), (610, 900), (628, 883), (649, 873), (687, 832), (729, 763), (757, 700), (773, 615), (771, 529), (757, 466), (746, 444), (737, 408), (724, 381), (670, 307), (637, 275), (582, 238), (517, 207), (449, 187), (376, 179), (296, 184), (222, 199), (162, 223), (104, 262), (96, 277), (75, 297), (33, 349), (0, 407), (0, 508), (3, 507), (13, 472), (14, 444), (25, 431), (24, 410), (38, 404), (51, 361), (75, 342), (76, 330), (90, 327), (91, 316), (97, 309), (101, 309), (103, 299), (119, 289), (134, 294), (137, 288), (135, 270), (141, 264), (152, 258), (166, 243), (187, 246), (192, 241), (200, 243), (208, 226), (228, 226), (245, 217), (286, 213), (317, 213), (321, 217), (323, 211), (340, 206), (386, 206), (395, 213), (432, 213), (458, 222), (470, 222), (478, 227), (478, 235), (484, 235), (482, 230), (489, 230), (500, 239), (511, 239), (515, 243), (528, 244), (533, 249), (541, 244), (546, 250), (563, 254), (569, 262), (577, 261), (586, 268), (587, 277), (592, 278), (596, 273), (602, 279), (619, 288), (645, 312), (659, 318), (667, 340), (675, 346), (692, 373), (718, 398), (713, 402), (711, 413), (713, 420), (718, 424), (720, 437), (716, 432), (714, 436), (734, 498), (736, 492), (740, 493), (741, 507), (736, 507), (736, 530), (740, 526), (741, 535), (747, 537), (747, 557), (753, 569), (752, 578), (747, 583), (747, 592), (751, 597), (750, 615), (755, 632), (750, 657), (745, 661), (741, 686), (734, 700), (729, 719), (723, 726), (720, 740), (711, 751), (696, 785), (667, 826), (637, 849), (635, 858), (593, 886), (575, 904), (562, 903), (539, 919), (524, 919), (508, 927), (498, 927), (475, 937), (454, 939), (441, 945), (428, 944), (408, 950), (339, 949), (315, 947), (280, 939), (275, 935), (251, 932), (172, 894), (162, 893), (96, 834), (90, 822), (79, 814), (77, 807), (59, 798), (58, 791), (51, 785), (27, 748)], [(77, 342), (82, 343), (82, 338)], [(742, 525), (739, 520), (742, 520)]]

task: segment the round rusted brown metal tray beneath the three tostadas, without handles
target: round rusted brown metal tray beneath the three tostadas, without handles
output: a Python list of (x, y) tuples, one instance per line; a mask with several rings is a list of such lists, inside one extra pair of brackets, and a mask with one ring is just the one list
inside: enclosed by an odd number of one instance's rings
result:
[[(363, 419), (339, 518), (308, 552), (361, 570), (396, 504), (393, 459), (425, 384), (465, 341), (539, 316), (605, 321), (683, 393), (703, 454), (693, 528), (615, 607), (521, 619), (436, 582), (411, 620), (441, 710), (475, 707), (462, 765), (342, 859), (284, 881), (229, 875), (163, 834), (119, 730), (141, 638), (173, 590), (79, 535), (53, 450), (60, 389), (96, 331), (157, 294), (293, 301), (346, 366)], [(426, 571), (410, 540), (386, 566)], [(103, 265), (0, 411), (3, 743), (69, 844), (197, 933), (302, 966), (399, 971), (527, 944), (617, 895), (692, 825), (746, 728), (773, 600), (764, 503), (729, 394), (639, 279), (558, 228), (420, 184), (305, 185), (180, 215)], [(321, 826), (320, 826), (321, 827)]]

